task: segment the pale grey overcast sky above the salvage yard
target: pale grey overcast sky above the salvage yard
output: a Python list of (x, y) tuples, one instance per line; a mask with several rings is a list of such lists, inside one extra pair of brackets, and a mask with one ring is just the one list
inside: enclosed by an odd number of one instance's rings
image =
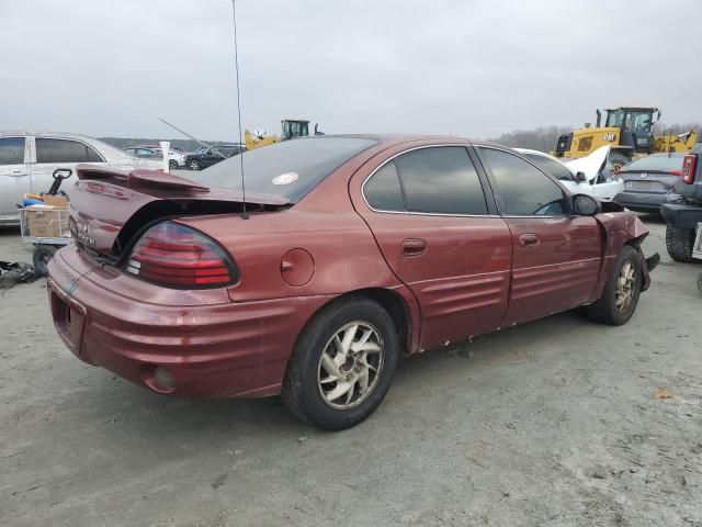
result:
[[(238, 0), (242, 124), (491, 137), (702, 119), (702, 2)], [(237, 137), (230, 0), (0, 0), (0, 130)]]

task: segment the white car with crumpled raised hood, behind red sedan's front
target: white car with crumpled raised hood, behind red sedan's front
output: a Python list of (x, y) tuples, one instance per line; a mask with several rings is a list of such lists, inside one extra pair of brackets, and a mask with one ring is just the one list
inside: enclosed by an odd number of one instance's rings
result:
[(599, 200), (611, 200), (624, 190), (621, 179), (604, 176), (610, 147), (603, 146), (592, 154), (566, 162), (548, 154), (526, 148), (514, 148), (542, 170), (553, 175), (574, 194), (589, 194)]

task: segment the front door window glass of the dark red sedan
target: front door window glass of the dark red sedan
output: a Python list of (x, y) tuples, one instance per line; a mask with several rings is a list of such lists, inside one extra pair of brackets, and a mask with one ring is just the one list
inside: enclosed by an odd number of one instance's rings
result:
[(548, 176), (513, 154), (480, 147), (496, 188), (495, 198), (502, 214), (510, 216), (557, 216), (567, 211), (561, 187)]

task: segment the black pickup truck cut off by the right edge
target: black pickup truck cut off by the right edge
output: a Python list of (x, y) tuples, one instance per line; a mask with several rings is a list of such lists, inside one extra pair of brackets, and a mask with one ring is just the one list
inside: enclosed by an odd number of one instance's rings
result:
[(673, 260), (692, 261), (695, 227), (702, 222), (702, 142), (684, 157), (675, 191), (680, 200), (660, 208), (667, 224), (666, 248)]

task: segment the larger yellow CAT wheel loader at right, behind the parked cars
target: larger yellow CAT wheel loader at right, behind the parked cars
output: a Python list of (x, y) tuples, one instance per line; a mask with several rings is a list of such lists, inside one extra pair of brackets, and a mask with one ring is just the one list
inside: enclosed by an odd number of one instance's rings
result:
[(597, 125), (592, 127), (586, 123), (584, 128), (561, 135), (553, 155), (574, 159), (610, 145), (610, 162), (620, 168), (635, 157), (648, 154), (689, 152), (698, 141), (698, 134), (692, 130), (681, 135), (671, 132), (654, 135), (654, 125), (661, 114), (657, 108), (619, 106), (604, 111), (604, 126), (600, 126), (602, 113), (597, 110)]

